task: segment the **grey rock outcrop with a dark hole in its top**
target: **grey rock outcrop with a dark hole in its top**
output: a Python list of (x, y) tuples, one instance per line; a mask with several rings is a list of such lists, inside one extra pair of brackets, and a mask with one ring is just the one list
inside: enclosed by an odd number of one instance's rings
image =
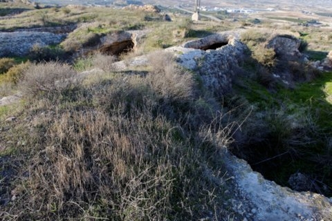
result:
[(199, 73), (204, 86), (220, 97), (232, 89), (232, 78), (247, 49), (237, 35), (221, 33), (167, 50), (174, 52), (178, 64)]

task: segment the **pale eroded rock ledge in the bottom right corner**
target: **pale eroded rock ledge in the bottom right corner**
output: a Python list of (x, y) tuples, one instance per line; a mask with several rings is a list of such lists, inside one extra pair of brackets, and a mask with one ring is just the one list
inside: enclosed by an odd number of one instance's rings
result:
[(241, 213), (247, 220), (332, 220), (332, 198), (292, 191), (265, 180), (246, 161), (230, 153), (225, 153), (223, 161), (234, 177), (234, 188), (242, 199)]

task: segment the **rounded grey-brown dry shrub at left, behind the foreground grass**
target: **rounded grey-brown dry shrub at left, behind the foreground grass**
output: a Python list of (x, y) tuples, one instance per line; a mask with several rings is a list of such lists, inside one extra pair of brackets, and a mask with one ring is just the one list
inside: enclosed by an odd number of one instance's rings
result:
[(24, 73), (19, 82), (19, 89), (28, 97), (39, 93), (55, 93), (68, 84), (75, 76), (75, 71), (67, 64), (48, 62), (33, 64)]

